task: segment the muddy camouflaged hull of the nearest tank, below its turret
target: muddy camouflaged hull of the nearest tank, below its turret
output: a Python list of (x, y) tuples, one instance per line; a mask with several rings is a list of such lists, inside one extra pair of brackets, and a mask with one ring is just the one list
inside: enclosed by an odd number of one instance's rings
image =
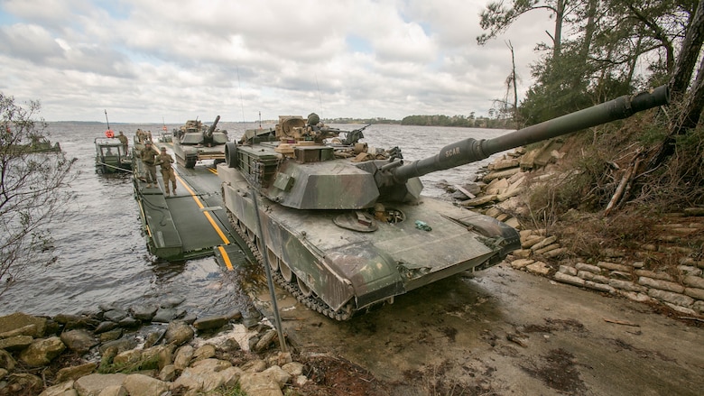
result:
[[(224, 164), (218, 175), (232, 225), (259, 253), (266, 251), (274, 278), (309, 308), (338, 320), (456, 273), (488, 268), (520, 248), (513, 227), (433, 198), (389, 204), (403, 221), (378, 222), (366, 233), (334, 223), (355, 211), (298, 210), (260, 197), (264, 249), (246, 180)], [(416, 220), (431, 231), (417, 228)]]

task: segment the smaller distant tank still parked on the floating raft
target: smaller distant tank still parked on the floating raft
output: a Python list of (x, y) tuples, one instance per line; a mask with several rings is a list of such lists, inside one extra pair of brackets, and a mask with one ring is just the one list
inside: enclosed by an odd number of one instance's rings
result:
[(197, 161), (225, 161), (227, 131), (216, 129), (220, 116), (208, 129), (198, 120), (189, 120), (180, 129), (173, 130), (173, 153), (176, 161), (186, 168), (193, 168)]

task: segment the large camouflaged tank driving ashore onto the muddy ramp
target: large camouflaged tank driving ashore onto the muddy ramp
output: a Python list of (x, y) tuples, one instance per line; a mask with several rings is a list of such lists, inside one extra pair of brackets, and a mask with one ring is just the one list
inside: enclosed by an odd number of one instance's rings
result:
[[(361, 131), (282, 116), (275, 131), (227, 143), (218, 165), (233, 226), (264, 254), (276, 281), (310, 309), (345, 320), (394, 296), (465, 270), (483, 270), (520, 248), (519, 235), (496, 219), (421, 196), (420, 176), (496, 152), (570, 134), (668, 103), (667, 87), (619, 97), (488, 140), (445, 146), (404, 162), (397, 149), (365, 152)], [(335, 142), (335, 139), (332, 139)], [(344, 144), (347, 143), (347, 144)], [(251, 193), (256, 190), (256, 197)], [(253, 198), (264, 240), (260, 240)]]

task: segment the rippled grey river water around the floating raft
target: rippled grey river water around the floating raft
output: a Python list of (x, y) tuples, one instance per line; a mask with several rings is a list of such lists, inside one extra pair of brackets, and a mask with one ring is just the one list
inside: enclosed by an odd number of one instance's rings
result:
[[(132, 136), (137, 128), (161, 131), (162, 124), (111, 124)], [(179, 126), (166, 125), (169, 130)], [(218, 124), (233, 138), (255, 124)], [(350, 125), (330, 125), (353, 129)], [(51, 142), (60, 142), (69, 158), (77, 158), (78, 172), (70, 189), (69, 216), (51, 226), (57, 262), (30, 267), (23, 279), (0, 297), (0, 315), (22, 311), (32, 315), (94, 312), (99, 304), (129, 307), (165, 297), (185, 299), (182, 309), (196, 315), (218, 315), (238, 308), (242, 293), (230, 273), (214, 258), (169, 263), (156, 260), (147, 250), (134, 201), (132, 180), (97, 174), (94, 139), (103, 136), (105, 124), (50, 123)], [(370, 146), (398, 146), (406, 161), (435, 155), (444, 145), (468, 137), (492, 138), (506, 131), (401, 125), (372, 125), (363, 142)], [(50, 154), (51, 155), (51, 154)], [(498, 154), (496, 154), (498, 155)], [(424, 194), (442, 197), (439, 180), (462, 184), (489, 160), (424, 176)], [(197, 165), (198, 166), (198, 165)], [(447, 197), (445, 197), (447, 198)], [(187, 237), (187, 236), (186, 236)]]

